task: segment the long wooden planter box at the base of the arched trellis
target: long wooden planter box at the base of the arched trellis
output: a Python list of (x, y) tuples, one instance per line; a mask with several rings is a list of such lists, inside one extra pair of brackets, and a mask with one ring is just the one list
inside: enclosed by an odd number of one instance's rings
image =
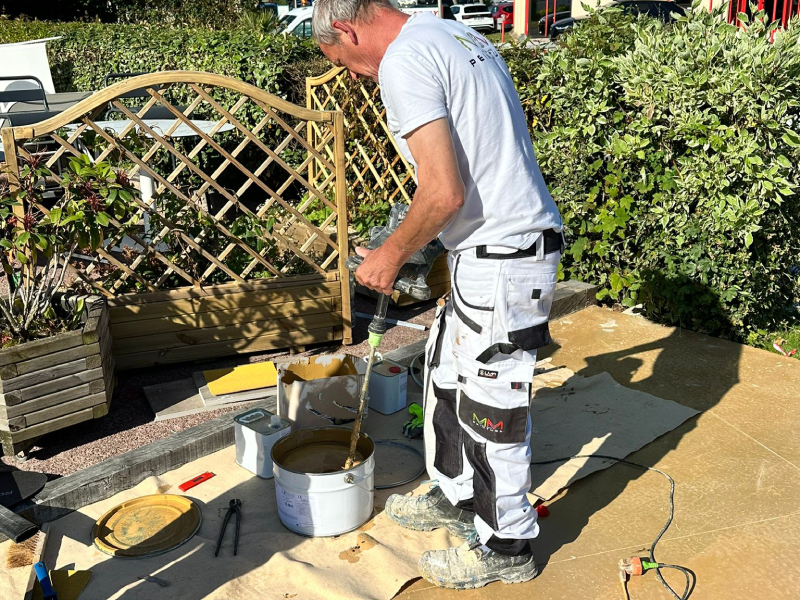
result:
[(350, 341), (338, 273), (128, 294), (108, 304), (118, 369)]

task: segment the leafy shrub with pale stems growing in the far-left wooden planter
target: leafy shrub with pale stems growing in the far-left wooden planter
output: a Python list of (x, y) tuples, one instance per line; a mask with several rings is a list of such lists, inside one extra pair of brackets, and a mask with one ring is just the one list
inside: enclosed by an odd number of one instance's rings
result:
[(59, 315), (53, 296), (62, 287), (77, 249), (97, 250), (112, 221), (128, 214), (135, 190), (127, 174), (88, 157), (70, 159), (61, 184), (64, 196), (50, 211), (43, 193), (53, 175), (43, 157), (32, 154), (19, 185), (0, 188), (0, 265), (6, 279), (0, 297), (0, 327), (6, 344), (31, 341), (74, 329), (80, 313)]

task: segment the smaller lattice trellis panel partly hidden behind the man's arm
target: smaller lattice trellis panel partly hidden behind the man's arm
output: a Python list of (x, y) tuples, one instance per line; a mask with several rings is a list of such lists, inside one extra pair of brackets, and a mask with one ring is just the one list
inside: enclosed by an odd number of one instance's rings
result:
[[(414, 168), (400, 154), (386, 125), (386, 109), (377, 85), (352, 81), (347, 69), (337, 67), (306, 79), (306, 107), (344, 113), (347, 183), (354, 202), (411, 201), (416, 188)], [(324, 139), (325, 132), (309, 123), (306, 135), (313, 145)], [(326, 172), (324, 164), (315, 163), (311, 168), (312, 181)]]

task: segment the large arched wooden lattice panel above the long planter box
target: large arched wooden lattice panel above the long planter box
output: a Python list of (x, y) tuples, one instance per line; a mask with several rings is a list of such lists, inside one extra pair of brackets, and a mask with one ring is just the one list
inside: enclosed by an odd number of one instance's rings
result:
[(48, 148), (50, 167), (89, 156), (138, 188), (125, 218), (111, 215), (102, 245), (78, 248), (73, 264), (113, 297), (335, 271), (345, 285), (343, 132), (341, 113), (294, 106), (219, 75), (172, 71), (4, 129), (3, 146), (12, 187), (25, 162)]

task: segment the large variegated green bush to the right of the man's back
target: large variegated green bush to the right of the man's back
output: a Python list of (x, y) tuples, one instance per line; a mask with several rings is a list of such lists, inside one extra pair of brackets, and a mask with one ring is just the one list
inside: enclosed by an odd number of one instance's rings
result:
[[(744, 16), (743, 18), (746, 18)], [(506, 54), (564, 217), (569, 278), (747, 338), (789, 316), (800, 256), (798, 22), (592, 17)]]

